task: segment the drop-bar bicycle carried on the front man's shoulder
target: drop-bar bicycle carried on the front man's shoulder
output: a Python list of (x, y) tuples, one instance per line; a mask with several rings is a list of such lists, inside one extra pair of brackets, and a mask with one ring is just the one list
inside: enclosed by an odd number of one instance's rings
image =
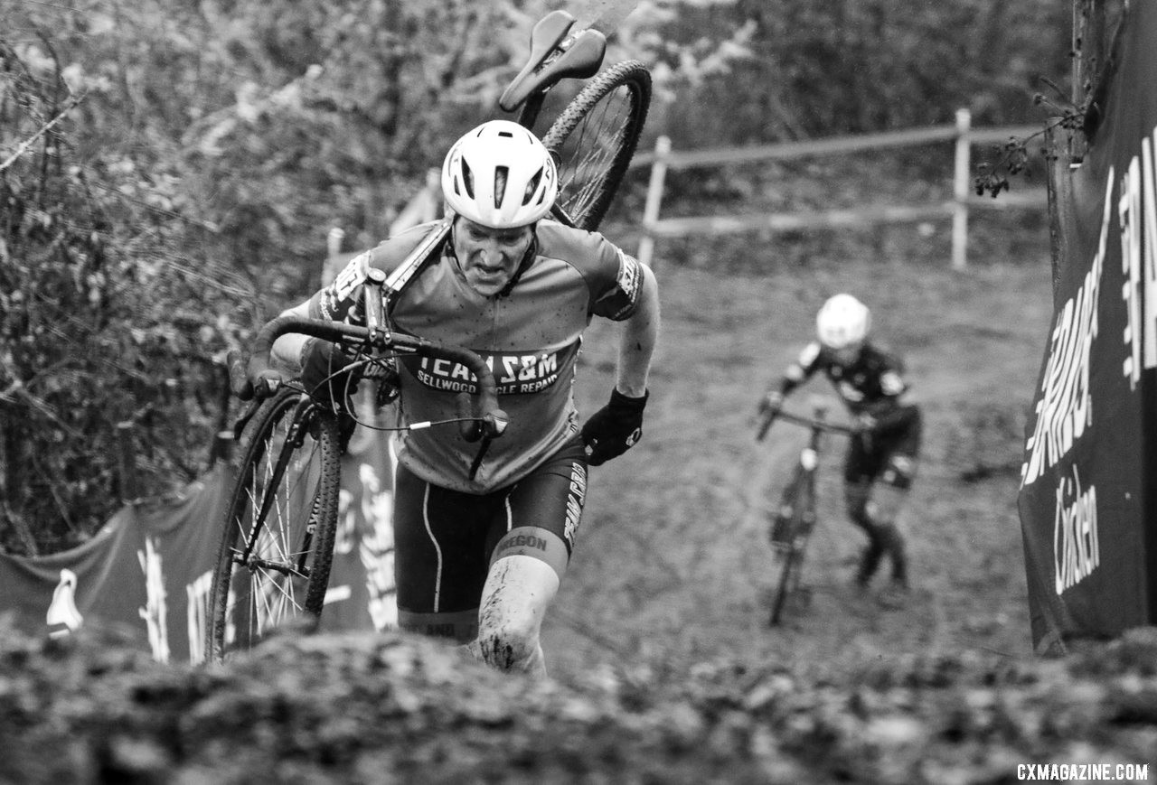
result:
[[(530, 59), (500, 101), (506, 111), (521, 108), (518, 121), (525, 127), (533, 128), (540, 119), (544, 99), (560, 80), (587, 79), (602, 66), (603, 35), (573, 32), (573, 27), (569, 14), (553, 12), (531, 34)], [(555, 219), (583, 229), (598, 227), (634, 154), (649, 102), (649, 73), (642, 64), (627, 61), (595, 76), (561, 111), (544, 135), (559, 163)], [(506, 415), (498, 407), (493, 375), (478, 355), (389, 328), (390, 296), (434, 256), (447, 230), (443, 222), (389, 280), (382, 276), (366, 286), (367, 327), (279, 317), (261, 328), (248, 365), (230, 358), (234, 392), (256, 400), (234, 429), (237, 437), (244, 434), (244, 446), (221, 523), (206, 661), (221, 661), (227, 652), (248, 649), (278, 628), (315, 625), (325, 600), (340, 456), (358, 421), (354, 413), (319, 405), (299, 382), (283, 382), (270, 370), (268, 353), (279, 335), (302, 333), (340, 343), (367, 379), (388, 379), (401, 355), (462, 363), (479, 384), (473, 398), (459, 395), (459, 417), (408, 428), (457, 423), (465, 438), (479, 444), (471, 474), (489, 440), (501, 436)], [(375, 403), (384, 405), (392, 390), (381, 385)]]

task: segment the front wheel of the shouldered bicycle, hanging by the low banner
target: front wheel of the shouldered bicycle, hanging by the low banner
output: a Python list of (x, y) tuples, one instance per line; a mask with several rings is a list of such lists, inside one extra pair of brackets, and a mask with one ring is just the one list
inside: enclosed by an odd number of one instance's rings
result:
[(294, 390), (261, 405), (229, 495), (209, 593), (208, 661), (316, 623), (338, 517), (337, 419)]

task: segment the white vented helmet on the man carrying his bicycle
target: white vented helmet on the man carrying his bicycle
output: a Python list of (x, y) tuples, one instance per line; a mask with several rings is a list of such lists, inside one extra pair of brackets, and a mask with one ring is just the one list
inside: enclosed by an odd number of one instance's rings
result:
[(550, 213), (559, 176), (550, 151), (510, 120), (484, 123), (454, 143), (442, 163), (450, 209), (492, 229), (524, 227)]

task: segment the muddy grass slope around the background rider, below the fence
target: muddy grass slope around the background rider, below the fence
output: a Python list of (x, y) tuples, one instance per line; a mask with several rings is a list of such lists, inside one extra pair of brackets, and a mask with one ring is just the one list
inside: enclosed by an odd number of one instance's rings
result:
[[(963, 272), (832, 264), (746, 277), (658, 273), (664, 331), (644, 436), (591, 472), (580, 546), (545, 630), (552, 669), (723, 658), (838, 679), (914, 652), (1031, 657), (1016, 493), (1052, 313), (1047, 258)], [(875, 334), (905, 357), (924, 408), (923, 460), (905, 519), (914, 591), (906, 609), (884, 612), (848, 587), (863, 536), (843, 517), (843, 444), (833, 438), (805, 568), (811, 602), (769, 629), (765, 511), (804, 434), (776, 424), (757, 444), (754, 407), (811, 338), (823, 299), (845, 290), (872, 308)], [(588, 335), (584, 413), (610, 390), (617, 338), (605, 324)], [(791, 402), (816, 397), (840, 409), (821, 378)]]

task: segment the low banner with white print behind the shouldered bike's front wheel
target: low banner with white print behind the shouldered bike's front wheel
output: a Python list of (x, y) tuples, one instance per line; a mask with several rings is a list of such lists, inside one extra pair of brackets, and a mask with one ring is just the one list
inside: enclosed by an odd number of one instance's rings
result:
[[(0, 554), (0, 613), (32, 635), (118, 624), (134, 630), (159, 661), (199, 662), (231, 479), (229, 466), (219, 464), (175, 498), (125, 506), (72, 550), (35, 558)], [(342, 457), (323, 630), (396, 625), (392, 524), (392, 442), (359, 429)]]

